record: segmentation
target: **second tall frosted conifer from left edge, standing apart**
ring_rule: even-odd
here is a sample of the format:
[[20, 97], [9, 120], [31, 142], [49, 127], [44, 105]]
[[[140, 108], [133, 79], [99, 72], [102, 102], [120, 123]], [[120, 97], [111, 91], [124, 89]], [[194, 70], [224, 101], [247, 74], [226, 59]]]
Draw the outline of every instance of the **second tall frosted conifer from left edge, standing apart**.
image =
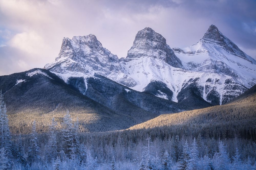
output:
[[37, 136], [38, 134], [36, 132], [36, 123], [34, 121], [32, 125], [32, 133], [31, 133], [29, 149], [28, 149], [28, 160], [30, 162], [35, 162], [36, 160], [40, 159]]

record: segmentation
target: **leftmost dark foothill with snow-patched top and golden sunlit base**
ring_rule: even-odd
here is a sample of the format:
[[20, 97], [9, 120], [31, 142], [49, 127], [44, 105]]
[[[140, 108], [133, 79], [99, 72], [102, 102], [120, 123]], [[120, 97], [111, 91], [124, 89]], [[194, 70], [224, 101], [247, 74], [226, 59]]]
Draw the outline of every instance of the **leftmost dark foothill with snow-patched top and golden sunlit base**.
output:
[[45, 132], [53, 117], [60, 127], [67, 111], [79, 120], [82, 132], [120, 130], [135, 124], [131, 116], [115, 113], [89, 99], [48, 70], [0, 76], [0, 87], [14, 134], [30, 133], [34, 120], [38, 131]]

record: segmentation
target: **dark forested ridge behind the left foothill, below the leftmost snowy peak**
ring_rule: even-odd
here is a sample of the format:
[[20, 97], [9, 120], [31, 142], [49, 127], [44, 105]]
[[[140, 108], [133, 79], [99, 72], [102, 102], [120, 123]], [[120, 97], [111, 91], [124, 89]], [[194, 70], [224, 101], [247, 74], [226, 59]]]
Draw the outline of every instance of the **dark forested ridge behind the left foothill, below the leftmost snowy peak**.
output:
[[[132, 90], [98, 74], [86, 78], [86, 82], [87, 88], [84, 91], [83, 78], [70, 78], [68, 80], [68, 84], [74, 88], [81, 89], [84, 86], [82, 93], [90, 99], [113, 109], [116, 113], [137, 116], [139, 121], [148, 120], [150, 118], [147, 117], [148, 115], [155, 117], [163, 113], [177, 113], [191, 109], [188, 106], [158, 98], [146, 92]], [[135, 112], [134, 108], [139, 110]]]

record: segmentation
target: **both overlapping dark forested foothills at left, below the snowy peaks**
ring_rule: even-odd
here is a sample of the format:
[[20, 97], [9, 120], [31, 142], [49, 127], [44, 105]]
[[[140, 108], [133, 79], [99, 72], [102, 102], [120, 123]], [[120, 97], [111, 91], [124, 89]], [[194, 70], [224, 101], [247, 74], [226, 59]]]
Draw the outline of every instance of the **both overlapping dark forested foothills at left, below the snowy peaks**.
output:
[[87, 87], [83, 77], [72, 77], [67, 84], [49, 70], [38, 68], [0, 76], [11, 132], [30, 133], [34, 120], [38, 131], [46, 132], [52, 118], [60, 128], [67, 111], [79, 121], [81, 132], [105, 132], [126, 129], [162, 113], [191, 109], [98, 74], [86, 81]]

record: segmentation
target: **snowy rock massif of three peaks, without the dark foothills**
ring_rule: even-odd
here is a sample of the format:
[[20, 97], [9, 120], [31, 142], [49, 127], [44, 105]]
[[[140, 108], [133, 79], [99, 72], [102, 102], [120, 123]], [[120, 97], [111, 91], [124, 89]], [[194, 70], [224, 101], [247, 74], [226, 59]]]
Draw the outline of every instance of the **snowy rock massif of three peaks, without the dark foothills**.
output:
[[88, 95], [87, 80], [96, 73], [193, 108], [202, 103], [204, 107], [224, 104], [256, 83], [256, 61], [214, 25], [198, 43], [173, 49], [162, 35], [147, 27], [137, 33], [127, 57], [119, 60], [94, 35], [64, 38], [56, 61], [45, 68], [66, 83], [82, 77], [84, 88], [81, 83], [76, 88], [84, 95]]

